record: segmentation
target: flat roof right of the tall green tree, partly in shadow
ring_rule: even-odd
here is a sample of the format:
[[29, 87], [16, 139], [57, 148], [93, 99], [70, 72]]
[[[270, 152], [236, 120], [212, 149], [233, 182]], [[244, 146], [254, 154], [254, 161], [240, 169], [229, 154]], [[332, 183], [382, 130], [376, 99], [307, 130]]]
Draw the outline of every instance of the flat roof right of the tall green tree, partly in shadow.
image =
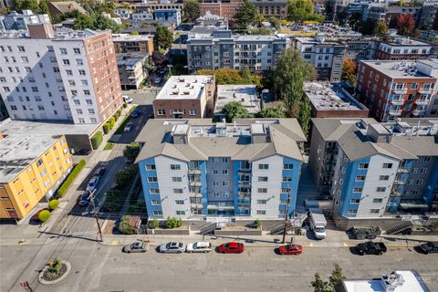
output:
[[368, 110], [347, 91], [328, 82], [304, 82], [304, 92], [317, 110]]

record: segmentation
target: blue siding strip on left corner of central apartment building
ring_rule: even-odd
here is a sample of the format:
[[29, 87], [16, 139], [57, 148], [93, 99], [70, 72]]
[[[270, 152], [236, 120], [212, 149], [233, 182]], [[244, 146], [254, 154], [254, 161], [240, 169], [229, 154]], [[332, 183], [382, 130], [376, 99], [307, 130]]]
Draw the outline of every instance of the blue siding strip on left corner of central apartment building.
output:
[[154, 215], [153, 211], [162, 211], [162, 205], [152, 205], [152, 200], [158, 200], [159, 202], [162, 201], [160, 194], [151, 194], [149, 193], [150, 188], [156, 188], [159, 189], [158, 183], [149, 183], [148, 177], [150, 176], [157, 176], [156, 171], [147, 171], [146, 165], [147, 164], [155, 164], [155, 160], [153, 158], [144, 160], [139, 162], [139, 170], [140, 170], [140, 177], [141, 177], [141, 184], [143, 186], [143, 195], [144, 195], [144, 201], [146, 203], [146, 210], [148, 210], [148, 216], [152, 219], [162, 219], [162, 215]]

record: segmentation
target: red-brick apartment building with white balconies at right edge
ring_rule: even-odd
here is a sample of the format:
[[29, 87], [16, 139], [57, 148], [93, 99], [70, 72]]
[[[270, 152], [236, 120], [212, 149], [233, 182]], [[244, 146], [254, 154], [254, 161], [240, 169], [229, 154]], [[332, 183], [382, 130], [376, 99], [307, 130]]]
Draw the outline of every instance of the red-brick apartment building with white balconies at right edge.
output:
[[437, 76], [436, 60], [361, 61], [357, 96], [379, 121], [425, 117]]

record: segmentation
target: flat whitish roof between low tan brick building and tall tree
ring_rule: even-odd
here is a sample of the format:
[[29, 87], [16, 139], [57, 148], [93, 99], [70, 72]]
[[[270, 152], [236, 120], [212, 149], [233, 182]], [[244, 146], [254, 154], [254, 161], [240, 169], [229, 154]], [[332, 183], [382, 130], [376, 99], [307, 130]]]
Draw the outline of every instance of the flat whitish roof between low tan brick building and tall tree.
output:
[[255, 85], [218, 85], [216, 95], [214, 113], [220, 113], [226, 104], [233, 101], [239, 102], [249, 113], [260, 111]]

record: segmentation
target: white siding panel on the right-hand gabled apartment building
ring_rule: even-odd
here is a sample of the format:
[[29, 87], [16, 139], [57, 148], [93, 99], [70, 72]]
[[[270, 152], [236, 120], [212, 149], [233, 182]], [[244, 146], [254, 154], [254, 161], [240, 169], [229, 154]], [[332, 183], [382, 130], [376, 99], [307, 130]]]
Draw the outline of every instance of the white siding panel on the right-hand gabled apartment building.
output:
[[[392, 168], [383, 168], [383, 163], [392, 163]], [[398, 167], [399, 161], [394, 158], [381, 154], [371, 156], [357, 217], [379, 217], [385, 212]], [[389, 175], [390, 180], [381, 181], [381, 175]], [[386, 191], [377, 192], [378, 187], [386, 187]], [[383, 200], [381, 203], [373, 203], [374, 199]], [[371, 209], [379, 209], [379, 214], [370, 214]]]

